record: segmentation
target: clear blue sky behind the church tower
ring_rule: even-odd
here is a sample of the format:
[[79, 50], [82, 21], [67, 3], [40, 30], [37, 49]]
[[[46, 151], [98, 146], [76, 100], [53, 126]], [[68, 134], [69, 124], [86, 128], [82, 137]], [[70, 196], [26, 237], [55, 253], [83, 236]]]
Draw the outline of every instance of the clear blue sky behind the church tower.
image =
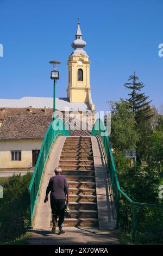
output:
[[106, 111], [106, 101], [126, 97], [123, 84], [134, 71], [146, 85], [143, 92], [159, 108], [162, 10], [162, 0], [0, 0], [0, 97], [53, 96], [52, 59], [61, 62], [57, 96], [66, 96], [66, 63], [79, 17], [96, 109]]

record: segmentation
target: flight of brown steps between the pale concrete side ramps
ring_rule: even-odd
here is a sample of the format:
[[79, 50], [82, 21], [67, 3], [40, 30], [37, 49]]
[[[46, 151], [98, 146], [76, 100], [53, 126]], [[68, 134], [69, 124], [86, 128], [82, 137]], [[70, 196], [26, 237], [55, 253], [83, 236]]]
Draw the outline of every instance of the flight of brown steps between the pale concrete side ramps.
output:
[[70, 189], [68, 227], [98, 227], [95, 167], [90, 136], [66, 137], [59, 167]]

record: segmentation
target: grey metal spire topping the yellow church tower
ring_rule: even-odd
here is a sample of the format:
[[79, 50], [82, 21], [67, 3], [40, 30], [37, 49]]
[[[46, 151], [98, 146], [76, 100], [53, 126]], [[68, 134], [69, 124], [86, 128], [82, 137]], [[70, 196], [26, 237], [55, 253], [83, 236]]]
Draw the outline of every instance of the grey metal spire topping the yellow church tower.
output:
[[78, 19], [78, 27], [76, 32], [76, 40], [72, 42], [72, 48], [74, 48], [74, 51], [71, 53], [71, 55], [78, 55], [82, 53], [83, 55], [87, 56], [87, 53], [83, 50], [83, 48], [86, 46], [86, 42], [82, 39], [82, 32], [80, 29], [80, 22]]

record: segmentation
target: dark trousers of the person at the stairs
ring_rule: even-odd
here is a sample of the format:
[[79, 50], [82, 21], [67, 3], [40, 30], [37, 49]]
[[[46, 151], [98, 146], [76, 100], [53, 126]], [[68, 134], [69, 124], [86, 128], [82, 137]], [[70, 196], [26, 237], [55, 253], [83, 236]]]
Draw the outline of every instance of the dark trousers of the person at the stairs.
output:
[[66, 199], [51, 199], [52, 222], [56, 223], [59, 217], [58, 227], [62, 227], [65, 220], [65, 202]]

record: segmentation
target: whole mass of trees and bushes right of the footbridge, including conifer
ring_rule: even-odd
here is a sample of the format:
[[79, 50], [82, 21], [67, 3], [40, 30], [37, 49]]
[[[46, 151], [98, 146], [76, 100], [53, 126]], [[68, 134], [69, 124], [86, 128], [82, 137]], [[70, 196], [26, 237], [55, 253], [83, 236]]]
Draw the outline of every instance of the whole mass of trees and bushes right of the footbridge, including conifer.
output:
[[[148, 96], [141, 92], [144, 84], [135, 75], [124, 86], [131, 90], [129, 99], [111, 102], [111, 135], [114, 160], [121, 189], [134, 202], [163, 205], [159, 186], [163, 185], [163, 118]], [[163, 111], [162, 111], [163, 113]], [[136, 148], [136, 162], [123, 156], [124, 149]], [[146, 161], [147, 167], [141, 166]], [[136, 208], [137, 243], [163, 243], [163, 210], [147, 206]], [[133, 206], [120, 197], [121, 234], [131, 235]]]

